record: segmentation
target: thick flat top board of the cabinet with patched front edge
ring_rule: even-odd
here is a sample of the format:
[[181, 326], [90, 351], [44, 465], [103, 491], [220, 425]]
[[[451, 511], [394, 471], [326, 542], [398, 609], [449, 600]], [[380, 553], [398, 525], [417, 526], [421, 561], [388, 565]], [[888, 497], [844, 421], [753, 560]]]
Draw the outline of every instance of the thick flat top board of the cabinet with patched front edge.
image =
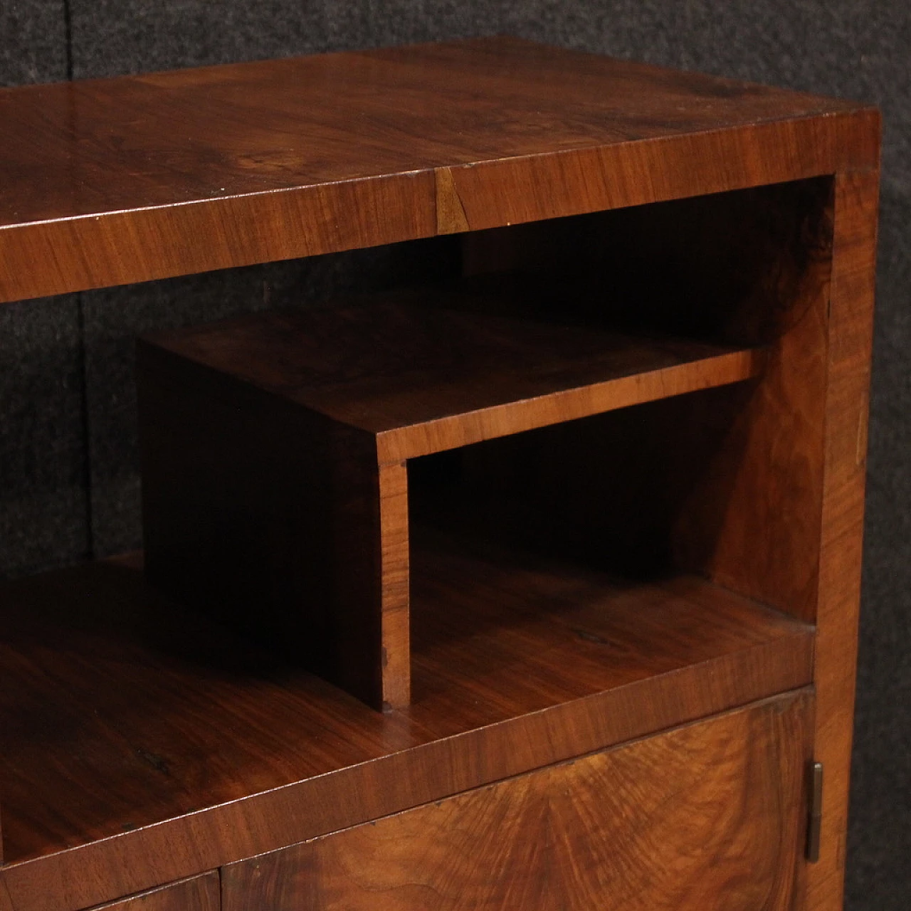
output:
[[878, 117], [507, 37], [0, 89], [0, 302], [875, 168]]

